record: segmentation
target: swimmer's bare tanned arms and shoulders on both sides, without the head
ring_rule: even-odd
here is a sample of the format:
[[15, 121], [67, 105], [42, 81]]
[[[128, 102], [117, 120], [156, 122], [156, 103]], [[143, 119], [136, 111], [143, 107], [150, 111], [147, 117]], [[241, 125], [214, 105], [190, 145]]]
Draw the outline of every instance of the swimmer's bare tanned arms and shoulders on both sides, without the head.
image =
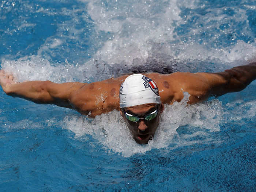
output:
[[[180, 102], [183, 92], [190, 94], [189, 104], [204, 101], [210, 96], [220, 96], [241, 91], [256, 79], [256, 62], [218, 73], [144, 74], [154, 80], [163, 104]], [[16, 83], [11, 74], [0, 70], [0, 85], [12, 97], [20, 97], [39, 104], [54, 104], [70, 108], [81, 114], [95, 117], [119, 110], [119, 89], [129, 75], [93, 83], [53, 83], [29, 81]]]

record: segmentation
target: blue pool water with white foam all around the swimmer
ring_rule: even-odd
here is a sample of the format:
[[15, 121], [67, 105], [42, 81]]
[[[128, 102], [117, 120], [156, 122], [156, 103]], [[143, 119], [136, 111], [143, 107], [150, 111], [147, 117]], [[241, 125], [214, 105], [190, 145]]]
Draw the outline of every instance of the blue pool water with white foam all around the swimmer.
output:
[[[0, 18], [1, 68], [17, 81], [218, 72], [256, 56], [251, 0], [1, 0]], [[117, 111], [92, 120], [0, 89], [0, 191], [256, 191], [255, 90], [165, 106], [140, 146]]]

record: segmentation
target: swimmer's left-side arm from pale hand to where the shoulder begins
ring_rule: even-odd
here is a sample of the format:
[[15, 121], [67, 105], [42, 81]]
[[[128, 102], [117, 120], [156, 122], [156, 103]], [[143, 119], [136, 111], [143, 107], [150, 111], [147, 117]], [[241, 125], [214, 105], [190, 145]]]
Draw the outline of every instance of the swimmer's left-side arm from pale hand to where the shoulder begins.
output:
[[71, 93], [86, 83], [53, 83], [50, 81], [29, 81], [15, 83], [13, 76], [0, 71], [0, 84], [7, 95], [20, 97], [40, 104], [54, 104], [73, 108]]

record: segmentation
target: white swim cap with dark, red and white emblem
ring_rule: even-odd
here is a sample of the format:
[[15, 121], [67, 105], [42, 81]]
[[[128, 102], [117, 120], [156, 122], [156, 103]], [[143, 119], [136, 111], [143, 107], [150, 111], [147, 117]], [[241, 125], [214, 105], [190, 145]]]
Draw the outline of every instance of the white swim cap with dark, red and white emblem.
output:
[[121, 84], [119, 96], [120, 108], [161, 103], [157, 84], [142, 74], [128, 76]]

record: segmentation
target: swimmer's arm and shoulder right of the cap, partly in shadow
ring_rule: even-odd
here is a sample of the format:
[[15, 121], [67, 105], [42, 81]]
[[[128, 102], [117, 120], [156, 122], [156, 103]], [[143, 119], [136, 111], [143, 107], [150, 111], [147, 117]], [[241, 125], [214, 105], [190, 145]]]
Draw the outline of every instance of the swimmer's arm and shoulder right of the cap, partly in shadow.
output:
[[176, 72], [164, 78], [166, 78], [165, 82], [169, 82], [170, 89], [163, 90], [171, 91], [162, 92], [163, 103], [172, 104], [173, 101], [181, 101], [185, 91], [190, 94], [188, 103], [192, 104], [204, 101], [210, 96], [218, 97], [245, 89], [256, 79], [256, 62], [218, 73]]

